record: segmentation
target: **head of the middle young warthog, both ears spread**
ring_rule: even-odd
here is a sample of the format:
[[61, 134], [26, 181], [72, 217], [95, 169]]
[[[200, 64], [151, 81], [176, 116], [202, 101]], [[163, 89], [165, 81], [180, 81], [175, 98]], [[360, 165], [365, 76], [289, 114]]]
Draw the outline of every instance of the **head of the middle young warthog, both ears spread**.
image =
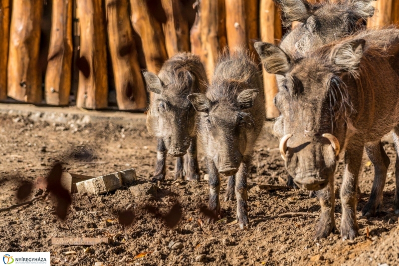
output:
[[228, 80], [212, 86], [218, 86], [220, 95], [191, 94], [189, 99], [200, 112], [198, 137], [207, 158], [213, 160], [219, 173], [231, 176], [237, 173], [247, 149], [251, 149], [247, 141], [252, 141], [248, 134], [254, 125], [245, 109], [253, 106], [259, 91], [249, 89], [246, 83]]

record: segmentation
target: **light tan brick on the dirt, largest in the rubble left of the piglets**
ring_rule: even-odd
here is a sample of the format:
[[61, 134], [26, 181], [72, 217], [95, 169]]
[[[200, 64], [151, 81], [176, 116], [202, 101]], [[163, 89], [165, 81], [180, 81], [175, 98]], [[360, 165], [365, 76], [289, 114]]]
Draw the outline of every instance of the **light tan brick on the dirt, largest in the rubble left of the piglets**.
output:
[[78, 192], [87, 192], [90, 194], [104, 194], [116, 190], [121, 186], [122, 176], [120, 172], [76, 183]]

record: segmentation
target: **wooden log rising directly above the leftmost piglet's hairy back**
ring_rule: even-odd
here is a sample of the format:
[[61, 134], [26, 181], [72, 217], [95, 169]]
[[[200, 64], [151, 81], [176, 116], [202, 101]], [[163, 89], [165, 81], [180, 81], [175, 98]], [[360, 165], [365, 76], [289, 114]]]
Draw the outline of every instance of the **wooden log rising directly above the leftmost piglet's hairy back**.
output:
[[168, 56], [190, 51], [189, 22], [183, 13], [180, 0], [162, 0], [162, 6], [167, 18], [164, 34]]

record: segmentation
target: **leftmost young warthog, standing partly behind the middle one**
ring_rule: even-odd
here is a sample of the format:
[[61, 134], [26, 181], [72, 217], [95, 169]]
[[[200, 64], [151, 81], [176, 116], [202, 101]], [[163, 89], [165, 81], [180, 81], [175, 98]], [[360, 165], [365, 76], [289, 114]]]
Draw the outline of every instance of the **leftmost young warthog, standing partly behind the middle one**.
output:
[[175, 179], [199, 180], [197, 112], [187, 96], [206, 90], [207, 79], [200, 58], [178, 53], [164, 63], [158, 76], [145, 72], [144, 77], [148, 90], [154, 93], [147, 113], [147, 129], [158, 139], [157, 164], [152, 181], [165, 179], [167, 152], [178, 157]]

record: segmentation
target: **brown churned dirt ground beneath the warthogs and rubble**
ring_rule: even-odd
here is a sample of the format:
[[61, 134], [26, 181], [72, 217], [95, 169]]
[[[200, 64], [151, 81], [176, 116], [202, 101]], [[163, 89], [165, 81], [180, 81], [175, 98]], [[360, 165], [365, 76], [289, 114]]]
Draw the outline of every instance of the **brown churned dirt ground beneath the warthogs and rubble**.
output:
[[[144, 115], [143, 115], [144, 116]], [[271, 134], [271, 123], [256, 145], [249, 183], [249, 218], [251, 227], [240, 230], [231, 225], [235, 202], [221, 202], [224, 219], [206, 223], [200, 213], [208, 200], [207, 182], [173, 182], [174, 159], [168, 157], [167, 180], [150, 185], [156, 160], [156, 141], [146, 130], [145, 120], [137, 124], [112, 122], [95, 124], [52, 124], [32, 122], [21, 115], [0, 115], [0, 208], [18, 203], [16, 191], [22, 180], [34, 181], [47, 175], [55, 161], [63, 162], [64, 171], [100, 176], [135, 168], [138, 181], [132, 189], [125, 186], [106, 195], [72, 194], [72, 205], [65, 221], [54, 214], [51, 195], [33, 204], [0, 213], [0, 251], [50, 252], [52, 265], [398, 265], [398, 217], [393, 213], [395, 192], [395, 151], [391, 141], [385, 149], [391, 158], [384, 206], [377, 218], [360, 217], [374, 177], [374, 169], [364, 158], [360, 178], [362, 194], [358, 213], [361, 236], [343, 242], [339, 234], [313, 241], [317, 216], [265, 218], [288, 212], [317, 214], [320, 206], [306, 191], [257, 190], [256, 185], [285, 185], [287, 173]], [[73, 123], [73, 122], [71, 122]], [[92, 156], [70, 157], [71, 151], [88, 150]], [[199, 156], [201, 178], [206, 169]], [[341, 160], [336, 174], [336, 223], [340, 228], [339, 187], [343, 170]], [[226, 180], [222, 180], [221, 195]], [[146, 193], [147, 192], [147, 195]], [[29, 198], [35, 196], [33, 191]], [[167, 214], [173, 204], [182, 205], [182, 219], [169, 229], [158, 218], [143, 210], [151, 204]], [[124, 227], [117, 212], [129, 208], [133, 223]], [[262, 220], [263, 219], [263, 220]], [[370, 237], [367, 238], [367, 231]], [[113, 243], [83, 246], [54, 246], [53, 237], [110, 237]], [[76, 254], [65, 255], [75, 251]], [[135, 256], [150, 252], [148, 255]]]

